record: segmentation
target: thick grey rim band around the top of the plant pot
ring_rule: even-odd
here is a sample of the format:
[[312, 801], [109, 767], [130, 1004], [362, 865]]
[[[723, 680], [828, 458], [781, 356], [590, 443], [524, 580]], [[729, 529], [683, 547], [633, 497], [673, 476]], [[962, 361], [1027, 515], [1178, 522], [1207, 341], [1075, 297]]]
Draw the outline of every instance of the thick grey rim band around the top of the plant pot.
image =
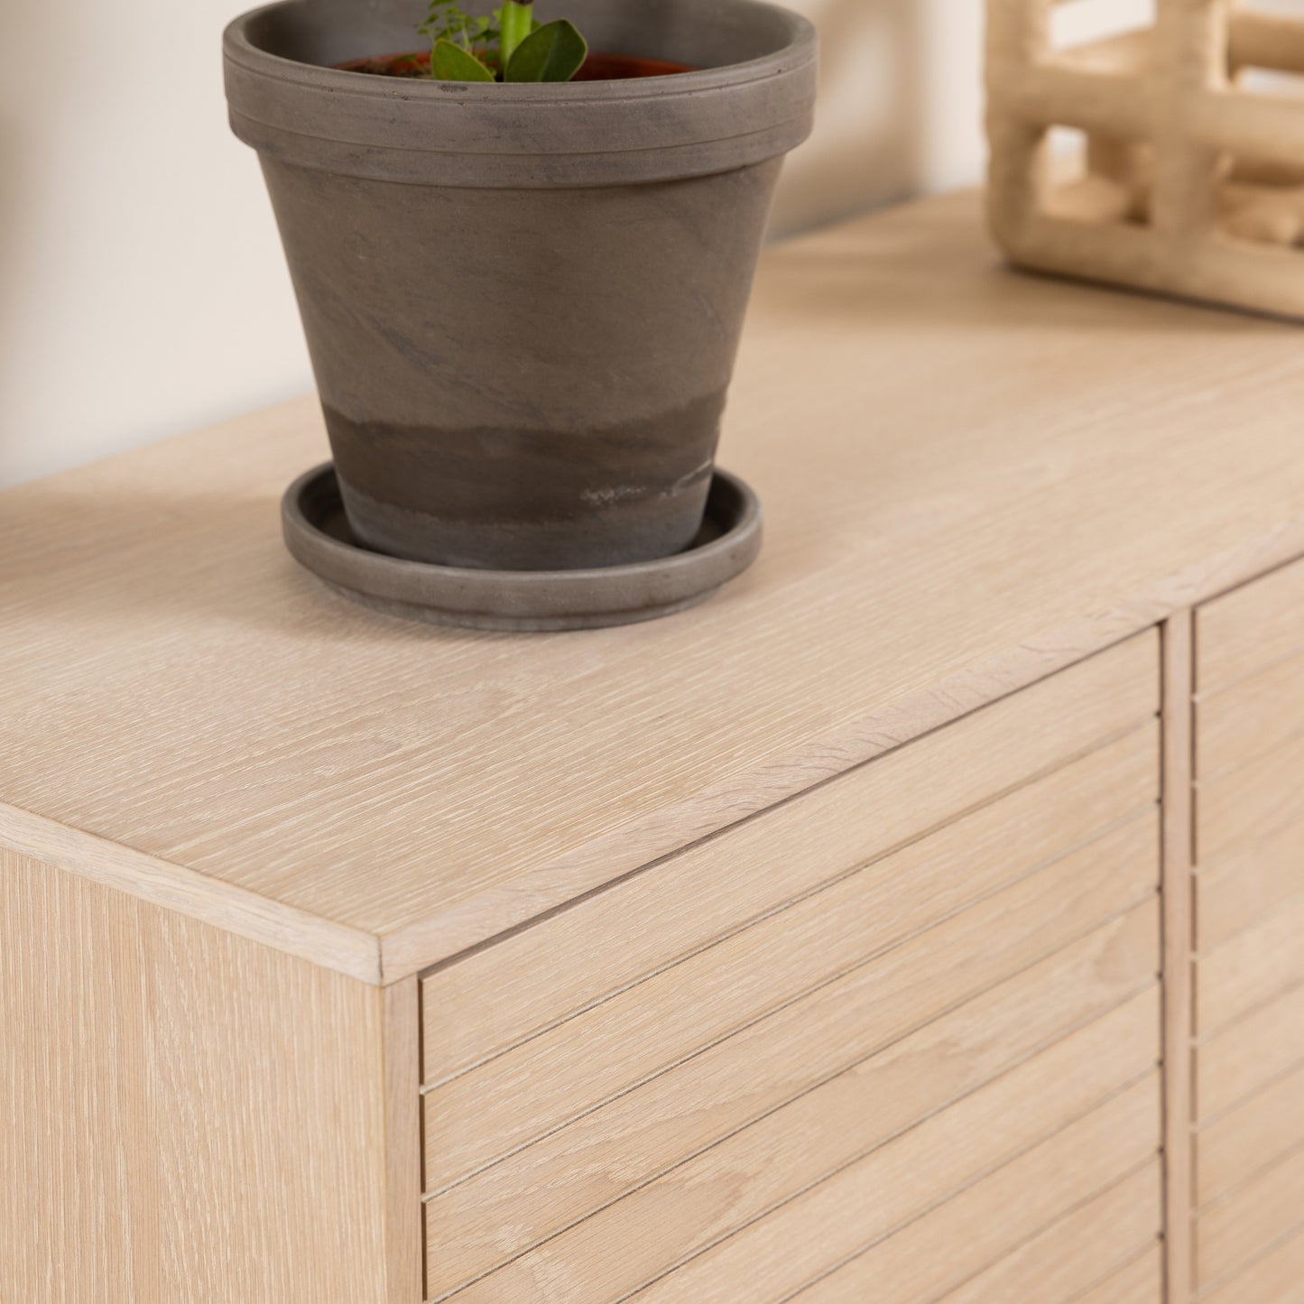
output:
[[[585, 0], [589, 7], [614, 0]], [[666, 4], [678, 0], [665, 0]], [[764, 0], [711, 0], [703, 38], [728, 51], [764, 16], [754, 59], [673, 77], [503, 85], [396, 80], [304, 63], [256, 43], [323, 56], [366, 14], [275, 0], [226, 30], [231, 126], [267, 160], [400, 185], [553, 189], [682, 180], [778, 158], [810, 136], [819, 38]], [[278, 30], [284, 16], [288, 23]], [[271, 16], [271, 17], [270, 17]], [[306, 22], [296, 34], [295, 22]], [[269, 25], [259, 34], [258, 25]], [[312, 23], [318, 26], [314, 29]], [[295, 46], [297, 39], [306, 47]], [[738, 39], [746, 39], [738, 37]], [[364, 40], [360, 43], [365, 43]], [[685, 61], [691, 61], [690, 56]]]

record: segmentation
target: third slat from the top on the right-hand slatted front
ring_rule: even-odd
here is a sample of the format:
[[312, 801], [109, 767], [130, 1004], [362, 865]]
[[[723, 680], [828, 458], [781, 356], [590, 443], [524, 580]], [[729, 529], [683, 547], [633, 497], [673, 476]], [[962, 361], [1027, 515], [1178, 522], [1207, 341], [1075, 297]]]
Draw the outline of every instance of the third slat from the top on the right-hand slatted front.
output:
[[[1197, 743], [1198, 746], [1198, 743]], [[1196, 789], [1196, 857], [1201, 867], [1247, 850], [1304, 816], [1304, 734]]]

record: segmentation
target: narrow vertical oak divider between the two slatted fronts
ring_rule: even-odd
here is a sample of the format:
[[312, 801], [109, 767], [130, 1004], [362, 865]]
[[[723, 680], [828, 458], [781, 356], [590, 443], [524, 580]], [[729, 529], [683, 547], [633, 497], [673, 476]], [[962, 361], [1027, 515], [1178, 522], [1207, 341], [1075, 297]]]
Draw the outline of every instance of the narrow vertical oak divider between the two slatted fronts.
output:
[[1194, 1029], [1192, 867], [1194, 862], [1196, 738], [1194, 617], [1181, 613], [1162, 630], [1163, 649], [1163, 1251], [1166, 1304], [1192, 1295], [1191, 1211], [1192, 1047]]

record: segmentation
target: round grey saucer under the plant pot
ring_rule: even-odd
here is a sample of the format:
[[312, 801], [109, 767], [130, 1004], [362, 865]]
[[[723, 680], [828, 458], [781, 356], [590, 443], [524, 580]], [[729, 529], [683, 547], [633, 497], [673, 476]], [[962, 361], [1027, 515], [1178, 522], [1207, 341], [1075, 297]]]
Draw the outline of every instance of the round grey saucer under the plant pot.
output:
[[336, 592], [393, 615], [479, 630], [592, 630], [670, 615], [741, 575], [762, 541], [760, 499], [724, 471], [691, 548], [600, 570], [468, 570], [370, 552], [349, 532], [329, 462], [286, 490], [280, 516], [291, 554]]

